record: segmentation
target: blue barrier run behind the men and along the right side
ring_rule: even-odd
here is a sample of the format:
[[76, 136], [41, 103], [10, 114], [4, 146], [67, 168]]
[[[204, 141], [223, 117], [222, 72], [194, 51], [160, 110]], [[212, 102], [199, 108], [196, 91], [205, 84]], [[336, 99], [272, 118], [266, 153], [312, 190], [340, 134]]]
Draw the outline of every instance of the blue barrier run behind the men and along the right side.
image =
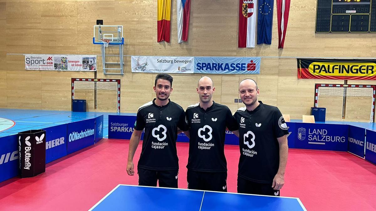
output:
[[[136, 116], [108, 115], [108, 138], [129, 140], [135, 121]], [[340, 124], [287, 122], [287, 126], [289, 148], [347, 151], [376, 164], [375, 131]], [[180, 133], [177, 142], [189, 142], [189, 139]], [[224, 143], [239, 145], [239, 139], [231, 131], [226, 131]]]

